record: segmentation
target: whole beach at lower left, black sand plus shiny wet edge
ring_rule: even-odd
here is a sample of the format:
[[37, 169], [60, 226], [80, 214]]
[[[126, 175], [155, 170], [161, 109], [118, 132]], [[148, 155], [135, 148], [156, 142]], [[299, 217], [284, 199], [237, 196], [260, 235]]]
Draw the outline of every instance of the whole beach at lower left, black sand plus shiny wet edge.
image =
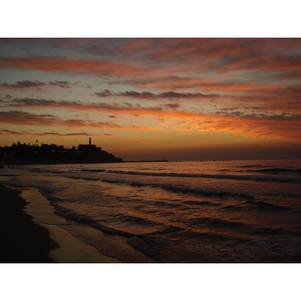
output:
[[0, 182], [0, 195], [1, 263], [122, 263], [53, 223], [65, 220], [38, 190]]

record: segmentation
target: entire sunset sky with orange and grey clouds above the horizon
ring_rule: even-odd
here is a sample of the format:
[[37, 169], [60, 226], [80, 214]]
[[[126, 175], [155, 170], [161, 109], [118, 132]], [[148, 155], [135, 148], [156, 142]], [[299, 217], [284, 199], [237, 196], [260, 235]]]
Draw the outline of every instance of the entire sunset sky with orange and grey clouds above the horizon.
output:
[[0, 146], [301, 158], [300, 38], [1, 38]]

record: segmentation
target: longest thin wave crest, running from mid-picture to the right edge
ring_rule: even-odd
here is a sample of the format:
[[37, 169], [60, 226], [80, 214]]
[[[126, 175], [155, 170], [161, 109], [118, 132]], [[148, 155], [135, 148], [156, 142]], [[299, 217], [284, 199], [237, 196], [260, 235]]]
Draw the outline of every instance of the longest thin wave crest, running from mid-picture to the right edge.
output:
[[284, 183], [301, 183], [300, 177], [275, 177], [275, 176], [253, 176], [253, 175], [206, 175], [206, 174], [178, 174], [178, 173], [143, 173], [132, 171], [116, 171], [108, 170], [107, 173], [121, 175], [137, 175], [152, 177], [182, 177], [182, 178], [214, 178], [214, 179], [232, 179], [246, 181], [262, 181], [262, 182], [284, 182]]

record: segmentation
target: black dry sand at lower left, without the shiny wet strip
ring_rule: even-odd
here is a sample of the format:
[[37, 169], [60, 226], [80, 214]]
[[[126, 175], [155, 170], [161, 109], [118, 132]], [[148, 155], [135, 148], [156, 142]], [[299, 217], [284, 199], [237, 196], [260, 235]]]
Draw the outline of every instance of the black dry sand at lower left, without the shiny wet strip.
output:
[[17, 190], [0, 185], [2, 263], [55, 263], [48, 256], [59, 244], [50, 238], [50, 232], [32, 221], [22, 211], [26, 202]]

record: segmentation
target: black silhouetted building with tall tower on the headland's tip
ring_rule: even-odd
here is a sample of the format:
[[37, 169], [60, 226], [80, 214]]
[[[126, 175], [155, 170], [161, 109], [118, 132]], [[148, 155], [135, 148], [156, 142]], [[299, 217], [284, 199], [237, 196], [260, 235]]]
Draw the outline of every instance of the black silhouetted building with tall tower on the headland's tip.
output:
[[77, 147], [79, 152], [82, 152], [86, 159], [90, 162], [97, 163], [112, 163], [112, 162], [122, 162], [121, 158], [115, 158], [112, 154], [101, 150], [101, 147], [96, 147], [95, 144], [91, 143], [91, 138], [89, 138], [89, 144], [79, 144]]

